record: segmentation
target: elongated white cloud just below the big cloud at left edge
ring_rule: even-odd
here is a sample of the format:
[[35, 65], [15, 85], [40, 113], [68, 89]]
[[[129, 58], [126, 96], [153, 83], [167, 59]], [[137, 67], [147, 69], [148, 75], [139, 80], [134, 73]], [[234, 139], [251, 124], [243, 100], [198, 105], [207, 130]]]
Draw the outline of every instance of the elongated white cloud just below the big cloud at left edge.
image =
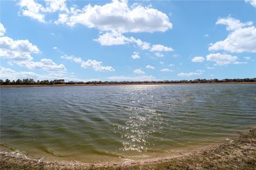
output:
[[27, 67], [28, 69], [43, 69], [48, 72], [62, 74], [66, 72], [65, 65], [56, 64], [51, 59], [43, 58], [40, 62], [33, 61], [17, 61], [19, 66]]

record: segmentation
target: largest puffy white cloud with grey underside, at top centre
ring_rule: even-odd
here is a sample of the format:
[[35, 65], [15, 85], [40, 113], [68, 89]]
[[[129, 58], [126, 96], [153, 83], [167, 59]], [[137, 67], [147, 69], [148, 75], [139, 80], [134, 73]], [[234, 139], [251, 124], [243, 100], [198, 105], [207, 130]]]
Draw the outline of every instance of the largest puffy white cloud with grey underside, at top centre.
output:
[[83, 24], [101, 31], [155, 32], [172, 28], [166, 14], [141, 5], [129, 7], [127, 1], [112, 1], [105, 5], [86, 5], [82, 10], [70, 10], [61, 15], [57, 23], [73, 27]]

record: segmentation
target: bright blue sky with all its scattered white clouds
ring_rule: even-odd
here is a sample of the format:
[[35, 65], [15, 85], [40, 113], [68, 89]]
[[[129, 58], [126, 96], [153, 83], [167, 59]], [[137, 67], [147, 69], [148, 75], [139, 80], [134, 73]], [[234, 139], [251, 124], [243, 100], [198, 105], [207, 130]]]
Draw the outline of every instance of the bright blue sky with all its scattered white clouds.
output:
[[256, 77], [256, 1], [1, 1], [1, 79]]

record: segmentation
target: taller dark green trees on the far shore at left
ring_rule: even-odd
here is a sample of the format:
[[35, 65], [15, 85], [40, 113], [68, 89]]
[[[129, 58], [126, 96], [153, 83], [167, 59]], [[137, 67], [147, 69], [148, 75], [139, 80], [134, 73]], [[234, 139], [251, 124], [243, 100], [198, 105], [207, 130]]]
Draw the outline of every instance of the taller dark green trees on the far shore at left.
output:
[[42, 80], [42, 81], [35, 81], [34, 79], [17, 79], [16, 81], [13, 80], [9, 80], [9, 79], [6, 79], [5, 81], [3, 81], [2, 79], [0, 79], [0, 84], [1, 85], [28, 85], [28, 84], [64, 84], [65, 83], [65, 80], [64, 79], [56, 79], [56, 80]]

